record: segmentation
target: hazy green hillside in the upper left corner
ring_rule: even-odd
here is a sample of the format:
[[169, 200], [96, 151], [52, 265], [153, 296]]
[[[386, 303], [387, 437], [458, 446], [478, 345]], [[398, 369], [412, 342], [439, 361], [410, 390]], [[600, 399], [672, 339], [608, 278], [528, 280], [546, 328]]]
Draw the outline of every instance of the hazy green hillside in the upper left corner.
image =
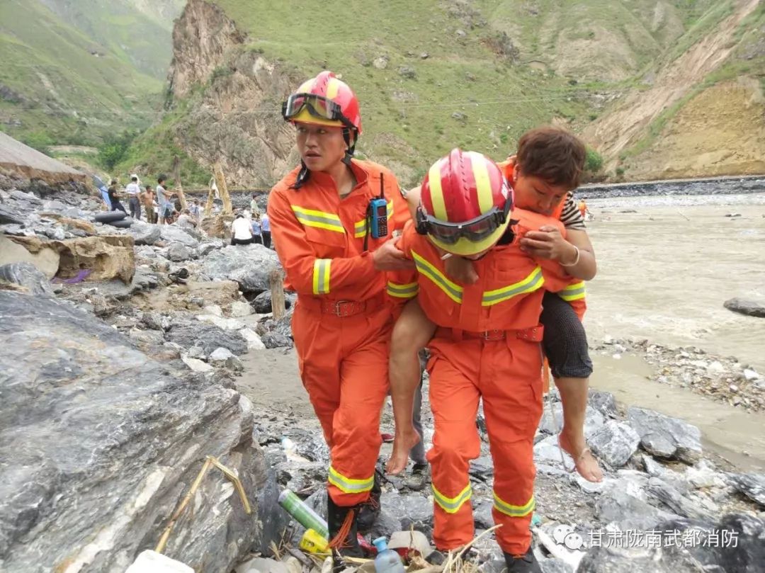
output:
[[97, 142], [151, 124], [161, 90], [37, 0], [0, 2], [0, 127], [10, 135]]

